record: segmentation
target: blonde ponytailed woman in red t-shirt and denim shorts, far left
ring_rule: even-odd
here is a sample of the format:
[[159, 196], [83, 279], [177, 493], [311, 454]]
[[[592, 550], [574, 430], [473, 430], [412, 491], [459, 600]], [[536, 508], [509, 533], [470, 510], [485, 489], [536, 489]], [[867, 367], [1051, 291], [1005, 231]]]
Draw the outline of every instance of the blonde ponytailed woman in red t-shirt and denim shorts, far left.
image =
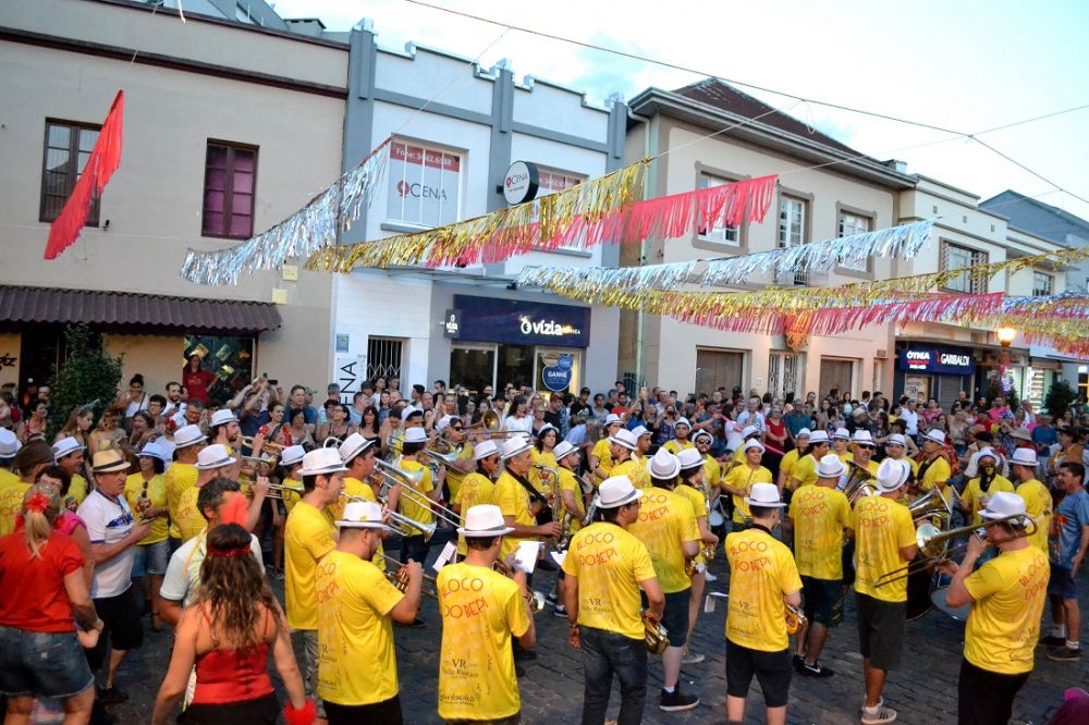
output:
[[0, 537], [0, 695], [9, 723], [27, 722], [35, 698], [59, 699], [64, 722], [86, 723], [95, 701], [83, 647], [97, 643], [102, 620], [78, 548], [53, 530], [60, 507], [53, 487], [32, 486], [23, 529]]

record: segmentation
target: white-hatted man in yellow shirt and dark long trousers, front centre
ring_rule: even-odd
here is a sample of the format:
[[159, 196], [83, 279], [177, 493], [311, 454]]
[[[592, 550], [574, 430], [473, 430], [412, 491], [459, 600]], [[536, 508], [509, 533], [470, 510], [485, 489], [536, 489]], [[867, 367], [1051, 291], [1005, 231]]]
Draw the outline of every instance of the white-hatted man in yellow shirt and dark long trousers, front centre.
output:
[[[563, 560], [568, 641], [583, 651], [584, 723], [604, 722], [614, 673], [621, 691], [617, 722], [643, 720], [647, 697], [643, 620], [661, 620], [665, 607], [650, 552], [626, 530], [639, 518], [643, 496], [623, 476], [602, 481], [598, 487], [602, 520], [582, 529]], [[645, 613], [640, 589], [649, 602]]]

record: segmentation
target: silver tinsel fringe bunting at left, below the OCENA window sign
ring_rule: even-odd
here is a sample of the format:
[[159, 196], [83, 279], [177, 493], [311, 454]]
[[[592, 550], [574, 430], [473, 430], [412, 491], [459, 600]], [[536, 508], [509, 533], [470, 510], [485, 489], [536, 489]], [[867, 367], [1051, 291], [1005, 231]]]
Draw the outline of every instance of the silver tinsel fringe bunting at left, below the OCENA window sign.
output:
[[337, 242], [370, 205], [389, 162], [390, 140], [327, 187], [301, 210], [267, 232], [218, 251], [191, 248], [182, 277], [196, 284], [237, 284], [245, 272], [277, 269], [289, 257], [309, 256]]

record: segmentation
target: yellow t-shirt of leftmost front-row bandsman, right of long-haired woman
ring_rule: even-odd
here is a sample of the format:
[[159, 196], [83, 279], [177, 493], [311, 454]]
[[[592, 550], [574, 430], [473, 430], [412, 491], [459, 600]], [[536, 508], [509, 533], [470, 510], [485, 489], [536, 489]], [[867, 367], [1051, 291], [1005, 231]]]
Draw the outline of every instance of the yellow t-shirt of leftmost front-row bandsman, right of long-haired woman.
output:
[[317, 592], [318, 697], [364, 705], [396, 696], [397, 661], [389, 614], [404, 594], [374, 564], [335, 549], [317, 565], [311, 587]]

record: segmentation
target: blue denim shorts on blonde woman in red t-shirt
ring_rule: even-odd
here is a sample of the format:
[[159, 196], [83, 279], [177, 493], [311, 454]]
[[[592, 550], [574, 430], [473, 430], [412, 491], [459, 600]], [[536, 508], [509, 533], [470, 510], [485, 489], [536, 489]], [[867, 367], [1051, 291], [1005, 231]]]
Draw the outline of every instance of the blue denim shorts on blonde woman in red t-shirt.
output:
[[74, 631], [0, 627], [0, 695], [69, 698], [94, 681]]

